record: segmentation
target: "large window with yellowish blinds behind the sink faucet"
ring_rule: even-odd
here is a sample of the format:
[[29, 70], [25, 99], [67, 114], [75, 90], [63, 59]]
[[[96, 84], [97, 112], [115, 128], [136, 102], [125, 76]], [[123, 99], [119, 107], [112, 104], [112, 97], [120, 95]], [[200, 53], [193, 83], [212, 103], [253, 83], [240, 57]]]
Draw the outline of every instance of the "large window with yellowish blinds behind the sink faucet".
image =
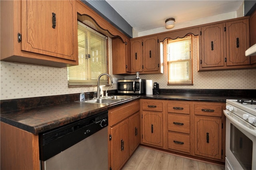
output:
[[[78, 66], [68, 67], [68, 86], [94, 86], [108, 73], [108, 37], [78, 21]], [[102, 76], [101, 84], [108, 84]]]

